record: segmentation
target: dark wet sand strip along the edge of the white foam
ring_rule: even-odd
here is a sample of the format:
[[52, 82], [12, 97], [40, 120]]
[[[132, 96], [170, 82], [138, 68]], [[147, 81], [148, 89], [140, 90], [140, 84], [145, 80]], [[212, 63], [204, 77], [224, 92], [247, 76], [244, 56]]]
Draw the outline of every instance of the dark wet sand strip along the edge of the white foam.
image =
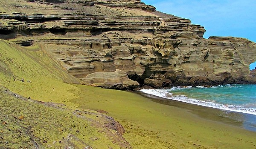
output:
[[[242, 129], [246, 129], [252, 132], [256, 132], [256, 115], [230, 111], [225, 109], [218, 109], [209, 106], [202, 106], [192, 103], [186, 103], [178, 100], [159, 97], [156, 95], [147, 94], [144, 92], [134, 92], [150, 100], [168, 106], [175, 106], [177, 108], [188, 110], [193, 115], [204, 118], [206, 120], [212, 120], [218, 123], [225, 123], [230, 126], [237, 126]], [[244, 119], [247, 118], [247, 120]], [[254, 121], [252, 121], [252, 120]], [[247, 123], [244, 126], [244, 123]]]

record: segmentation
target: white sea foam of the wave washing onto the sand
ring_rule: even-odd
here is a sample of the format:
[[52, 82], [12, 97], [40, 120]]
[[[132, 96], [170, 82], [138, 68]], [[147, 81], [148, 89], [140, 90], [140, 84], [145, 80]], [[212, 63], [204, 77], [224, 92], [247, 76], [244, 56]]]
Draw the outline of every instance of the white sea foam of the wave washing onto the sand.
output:
[[[200, 87], [202, 87], [202, 86], [200, 86]], [[189, 88], [192, 88], [192, 86], [189, 86]], [[176, 90], [176, 89], [184, 89], [184, 88], [173, 87], [172, 89], [142, 89], [140, 91], [144, 92], [146, 94], [157, 96], [157, 97], [163, 97], [166, 99], [177, 100], [177, 101], [181, 101], [181, 102], [185, 102], [185, 103], [191, 103], [191, 104], [196, 104], [196, 105], [200, 105], [200, 106], [212, 107], [212, 108], [216, 108], [216, 109], [223, 109], [223, 110], [228, 110], [228, 111], [256, 115], [256, 108], [235, 106], [235, 105], [230, 105], [230, 104], [214, 103], [214, 101], [210, 101], [210, 100], [192, 99], [192, 98], [188, 98], [188, 97], [182, 96], [182, 95], [180, 95], [180, 96], [172, 95], [172, 93], [169, 92], [170, 90]]]

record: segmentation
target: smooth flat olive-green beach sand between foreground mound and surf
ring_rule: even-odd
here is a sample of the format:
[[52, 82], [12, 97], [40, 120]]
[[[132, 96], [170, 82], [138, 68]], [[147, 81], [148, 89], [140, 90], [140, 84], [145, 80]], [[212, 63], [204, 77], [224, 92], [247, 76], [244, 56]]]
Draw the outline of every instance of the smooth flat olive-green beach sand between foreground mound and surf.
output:
[[181, 144], [183, 148], [202, 149], [256, 146], [256, 132], [244, 129], [241, 121], [220, 116], [223, 111], [159, 100], [138, 92], [77, 86], [81, 97], [72, 102], [80, 105], [79, 109], [108, 112], [106, 115], [124, 127], [123, 136], [135, 149], [176, 149]]

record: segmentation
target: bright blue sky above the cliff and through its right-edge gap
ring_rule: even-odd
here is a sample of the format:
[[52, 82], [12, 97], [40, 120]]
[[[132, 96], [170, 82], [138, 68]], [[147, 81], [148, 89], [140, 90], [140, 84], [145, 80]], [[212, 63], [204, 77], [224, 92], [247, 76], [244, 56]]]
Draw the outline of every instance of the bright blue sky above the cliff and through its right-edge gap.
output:
[[[209, 36], [233, 36], [256, 42], [256, 0], [141, 0], [158, 11], [204, 26]], [[256, 63], [250, 66], [254, 69]]]

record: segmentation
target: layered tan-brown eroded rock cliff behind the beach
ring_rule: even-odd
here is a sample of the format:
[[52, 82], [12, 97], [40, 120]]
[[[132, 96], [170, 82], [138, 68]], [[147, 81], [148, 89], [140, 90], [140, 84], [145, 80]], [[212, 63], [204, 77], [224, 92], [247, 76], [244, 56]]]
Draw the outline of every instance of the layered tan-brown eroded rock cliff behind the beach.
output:
[[256, 83], [256, 43], [209, 37], [140, 0], [1, 0], [0, 39], [40, 43], [83, 84], [114, 89]]

